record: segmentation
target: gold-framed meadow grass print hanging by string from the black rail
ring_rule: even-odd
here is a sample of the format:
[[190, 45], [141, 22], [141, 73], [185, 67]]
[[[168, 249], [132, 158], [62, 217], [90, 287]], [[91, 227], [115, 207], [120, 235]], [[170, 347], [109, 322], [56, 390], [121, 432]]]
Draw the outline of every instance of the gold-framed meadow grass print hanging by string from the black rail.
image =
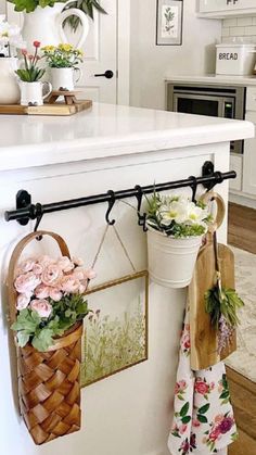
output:
[[86, 295], [93, 312], [84, 323], [81, 387], [148, 359], [149, 273], [108, 281]]

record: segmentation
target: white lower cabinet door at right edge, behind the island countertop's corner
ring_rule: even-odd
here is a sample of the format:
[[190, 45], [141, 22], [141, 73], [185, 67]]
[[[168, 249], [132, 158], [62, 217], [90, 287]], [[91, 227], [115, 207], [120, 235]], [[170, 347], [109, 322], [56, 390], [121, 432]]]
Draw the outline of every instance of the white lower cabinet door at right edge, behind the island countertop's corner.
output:
[[[246, 121], [256, 125], [256, 112], [248, 112]], [[244, 141], [243, 192], [256, 195], [256, 138]]]

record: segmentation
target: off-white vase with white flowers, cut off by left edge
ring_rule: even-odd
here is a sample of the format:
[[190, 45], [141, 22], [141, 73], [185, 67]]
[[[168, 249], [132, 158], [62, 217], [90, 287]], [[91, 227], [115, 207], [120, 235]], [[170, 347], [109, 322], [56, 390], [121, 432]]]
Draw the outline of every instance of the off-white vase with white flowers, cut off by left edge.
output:
[[16, 104], [20, 101], [20, 89], [15, 69], [17, 59], [15, 46], [20, 42], [20, 28], [0, 15], [0, 104]]

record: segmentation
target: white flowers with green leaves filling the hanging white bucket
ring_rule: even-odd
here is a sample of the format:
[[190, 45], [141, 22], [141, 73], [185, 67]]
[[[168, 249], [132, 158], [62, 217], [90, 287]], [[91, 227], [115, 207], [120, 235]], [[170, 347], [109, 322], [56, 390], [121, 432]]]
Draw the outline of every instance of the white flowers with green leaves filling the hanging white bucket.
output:
[[203, 202], [192, 202], [185, 195], [161, 195], [154, 192], [148, 203], [146, 225], [166, 236], [202, 236], [206, 233], [212, 219]]

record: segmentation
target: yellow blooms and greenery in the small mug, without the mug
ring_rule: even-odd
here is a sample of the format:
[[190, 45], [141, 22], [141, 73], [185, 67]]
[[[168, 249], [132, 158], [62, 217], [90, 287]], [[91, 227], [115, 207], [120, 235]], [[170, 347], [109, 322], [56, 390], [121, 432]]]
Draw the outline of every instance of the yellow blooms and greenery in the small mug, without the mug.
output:
[[69, 43], [44, 46], [41, 51], [52, 68], [74, 68], [82, 62], [82, 51]]

